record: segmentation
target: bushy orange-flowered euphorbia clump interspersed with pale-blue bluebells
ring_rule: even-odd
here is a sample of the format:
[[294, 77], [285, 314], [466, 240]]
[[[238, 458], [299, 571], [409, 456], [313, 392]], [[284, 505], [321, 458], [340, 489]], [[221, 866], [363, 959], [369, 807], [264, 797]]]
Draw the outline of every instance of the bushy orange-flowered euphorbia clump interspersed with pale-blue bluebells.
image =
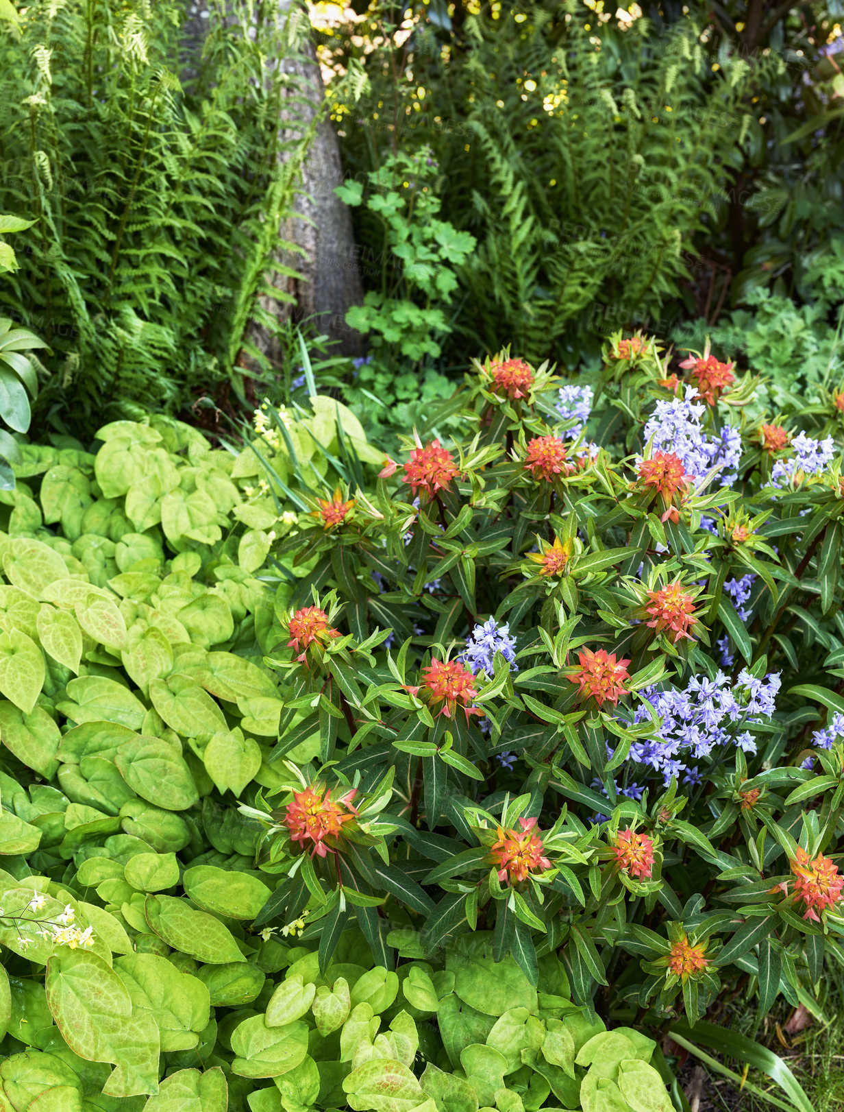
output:
[[670, 374], [642, 335], [590, 386], [502, 353], [432, 417], [465, 438], [409, 437], [300, 516], [260, 922], [307, 909], [328, 957], [354, 915], [384, 965], [396, 924], [425, 955], [491, 931], [653, 1019], [724, 981], [760, 1017], [811, 992], [842, 955], [816, 727], [844, 711], [844, 494], [832, 437], [745, 417], [756, 385], [709, 346]]

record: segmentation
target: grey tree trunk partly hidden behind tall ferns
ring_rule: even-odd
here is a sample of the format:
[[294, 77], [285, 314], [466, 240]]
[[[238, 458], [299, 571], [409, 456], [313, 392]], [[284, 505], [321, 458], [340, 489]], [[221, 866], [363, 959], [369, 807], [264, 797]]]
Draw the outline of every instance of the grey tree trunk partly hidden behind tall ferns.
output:
[[[289, 4], [282, 0], [280, 10], [284, 13]], [[204, 38], [212, 19], [207, 0], [188, 4], [183, 29], [184, 61], [182, 72], [193, 76], [193, 60], [202, 52]], [[325, 96], [322, 75], [316, 61], [313, 42], [307, 44], [307, 58], [282, 59], [285, 72], [301, 79], [300, 96], [309, 105], [297, 105], [297, 115], [307, 127], [319, 112]], [[279, 120], [280, 130], [290, 136], [290, 121]], [[295, 278], [271, 278], [271, 284], [282, 285], [295, 298], [294, 302], [261, 298], [263, 309], [280, 321], [292, 318], [305, 320], [315, 318], [314, 326], [336, 344], [335, 354], [359, 355], [362, 337], [356, 329], [345, 324], [345, 314], [353, 305], [363, 301], [360, 267], [358, 265], [352, 219], [348, 207], [334, 195], [334, 188], [342, 185], [343, 169], [340, 161], [340, 146], [331, 121], [323, 115], [316, 127], [316, 135], [302, 166], [300, 192], [297, 197], [295, 217], [287, 220], [279, 229], [280, 240], [297, 244], [304, 254], [284, 251], [281, 247], [277, 260], [298, 270]], [[275, 364], [281, 361], [281, 353], [272, 331], [255, 322], [250, 326], [249, 339]]]

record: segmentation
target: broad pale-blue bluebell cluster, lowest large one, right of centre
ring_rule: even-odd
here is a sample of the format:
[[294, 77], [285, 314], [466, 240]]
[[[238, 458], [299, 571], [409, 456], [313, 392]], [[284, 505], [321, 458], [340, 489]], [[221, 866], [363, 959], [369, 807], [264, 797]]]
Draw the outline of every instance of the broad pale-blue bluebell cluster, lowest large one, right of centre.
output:
[[751, 732], [737, 733], [736, 727], [770, 718], [778, 691], [778, 672], [757, 679], [746, 668], [738, 673], [735, 684], [719, 672], [714, 679], [692, 676], [682, 692], [649, 687], [642, 693], [645, 702], [636, 708], [633, 721], [646, 722], [653, 708], [662, 724], [654, 738], [633, 743], [630, 759], [661, 772], [666, 785], [683, 772], [683, 782], [695, 784], [701, 774], [689, 765], [689, 758], [699, 761], [730, 743], [744, 753], [756, 752]]

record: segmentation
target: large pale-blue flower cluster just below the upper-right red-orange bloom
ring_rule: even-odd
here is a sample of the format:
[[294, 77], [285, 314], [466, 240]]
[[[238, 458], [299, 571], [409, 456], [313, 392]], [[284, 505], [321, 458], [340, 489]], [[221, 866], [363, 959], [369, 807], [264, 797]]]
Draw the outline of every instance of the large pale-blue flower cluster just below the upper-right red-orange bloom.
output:
[[701, 425], [706, 406], [695, 401], [695, 397], [697, 390], [686, 387], [684, 397], [657, 401], [645, 425], [645, 443], [653, 437], [653, 451], [673, 453], [682, 460], [686, 474], [696, 479], [719, 467], [721, 486], [730, 486], [742, 456], [741, 433], [732, 425], [724, 425], [720, 433], [707, 437]]

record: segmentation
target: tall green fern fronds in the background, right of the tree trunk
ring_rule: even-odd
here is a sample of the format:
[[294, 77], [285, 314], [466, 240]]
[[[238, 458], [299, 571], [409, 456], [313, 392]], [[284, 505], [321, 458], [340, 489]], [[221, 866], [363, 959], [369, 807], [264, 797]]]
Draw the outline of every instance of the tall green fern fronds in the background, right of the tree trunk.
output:
[[[512, 342], [571, 363], [597, 354], [607, 309], [619, 322], [677, 311], [689, 252], [721, 227], [758, 128], [743, 98], [774, 60], [713, 64], [694, 16], [657, 27], [575, 4], [439, 11], [400, 28], [373, 4], [370, 41], [355, 22], [324, 50], [370, 80], [354, 103], [335, 95], [350, 188], [391, 143], [405, 159], [430, 148], [442, 218], [478, 241], [449, 361]], [[380, 229], [360, 219], [358, 236], [380, 255]]]

